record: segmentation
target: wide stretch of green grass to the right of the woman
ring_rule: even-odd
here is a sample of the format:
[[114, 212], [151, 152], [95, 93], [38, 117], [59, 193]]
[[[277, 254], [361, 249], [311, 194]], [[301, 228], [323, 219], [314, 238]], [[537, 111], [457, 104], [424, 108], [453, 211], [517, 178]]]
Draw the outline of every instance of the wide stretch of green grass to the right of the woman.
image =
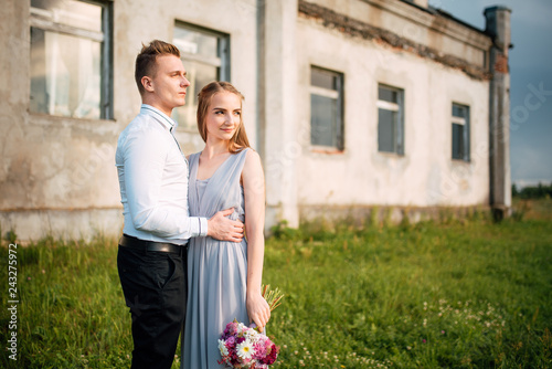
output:
[[274, 241], [282, 367], [552, 367], [551, 224], [433, 223]]

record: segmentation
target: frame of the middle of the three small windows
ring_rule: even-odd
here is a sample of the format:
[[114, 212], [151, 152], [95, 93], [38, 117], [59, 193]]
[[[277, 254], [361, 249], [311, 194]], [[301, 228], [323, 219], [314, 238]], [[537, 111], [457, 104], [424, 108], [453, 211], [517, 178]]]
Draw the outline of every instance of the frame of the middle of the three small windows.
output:
[[[397, 102], [388, 102], [384, 99], [380, 98], [380, 88], [384, 88], [388, 91], [392, 91], [396, 93], [397, 96]], [[399, 156], [404, 156], [405, 154], [405, 129], [404, 129], [404, 120], [405, 120], [405, 113], [404, 113], [404, 97], [405, 93], [403, 88], [391, 86], [384, 83], [378, 83], [378, 101], [375, 103], [375, 106], [378, 108], [378, 135], [376, 135], [376, 146], [378, 146], [378, 152], [382, 154], [394, 154]], [[384, 150], [380, 147], [380, 109], [384, 109], [388, 112], [395, 112], [397, 113], [397, 119], [393, 124], [396, 126], [394, 127], [394, 137], [393, 137], [393, 150]]]

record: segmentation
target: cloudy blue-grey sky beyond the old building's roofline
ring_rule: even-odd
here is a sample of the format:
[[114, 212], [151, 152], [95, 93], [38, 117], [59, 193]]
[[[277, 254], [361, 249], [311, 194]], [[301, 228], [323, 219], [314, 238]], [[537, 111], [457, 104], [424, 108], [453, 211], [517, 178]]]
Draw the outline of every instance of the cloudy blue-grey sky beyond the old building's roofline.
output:
[[552, 1], [429, 0], [429, 6], [478, 29], [485, 8], [511, 13], [510, 162], [519, 187], [552, 182]]

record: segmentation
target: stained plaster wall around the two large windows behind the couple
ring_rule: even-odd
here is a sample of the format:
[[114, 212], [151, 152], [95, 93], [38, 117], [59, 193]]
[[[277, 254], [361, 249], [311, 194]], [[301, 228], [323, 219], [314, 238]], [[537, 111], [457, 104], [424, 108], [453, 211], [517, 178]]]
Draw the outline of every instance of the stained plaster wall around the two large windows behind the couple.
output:
[[[117, 236], [123, 225], [115, 150], [119, 133], [136, 116], [134, 80], [141, 43], [171, 41], [174, 21], [225, 32], [231, 38], [231, 80], [245, 95], [244, 117], [256, 145], [256, 0], [114, 0], [114, 119], [86, 120], [29, 114], [29, 1], [2, 4], [0, 77], [0, 226], [21, 240]], [[201, 150], [198, 134], [179, 131], [187, 154]]]

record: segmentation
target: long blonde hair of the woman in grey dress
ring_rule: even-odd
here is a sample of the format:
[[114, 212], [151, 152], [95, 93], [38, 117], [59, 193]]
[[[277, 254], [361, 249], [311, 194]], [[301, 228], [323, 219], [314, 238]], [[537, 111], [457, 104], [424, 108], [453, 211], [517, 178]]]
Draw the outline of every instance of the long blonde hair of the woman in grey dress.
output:
[[[208, 130], [205, 124], [205, 117], [208, 115], [209, 105], [213, 96], [221, 92], [229, 92], [235, 94], [240, 97], [240, 104], [244, 101], [242, 93], [240, 93], [236, 87], [234, 87], [230, 82], [211, 82], [203, 88], [201, 88], [198, 94], [198, 130], [200, 131], [203, 141], [206, 141]], [[237, 126], [234, 136], [230, 139], [229, 151], [232, 154], [238, 152], [250, 146], [250, 140], [247, 139], [247, 134], [245, 133], [245, 127], [243, 125], [243, 116], [240, 115], [240, 125]]]

